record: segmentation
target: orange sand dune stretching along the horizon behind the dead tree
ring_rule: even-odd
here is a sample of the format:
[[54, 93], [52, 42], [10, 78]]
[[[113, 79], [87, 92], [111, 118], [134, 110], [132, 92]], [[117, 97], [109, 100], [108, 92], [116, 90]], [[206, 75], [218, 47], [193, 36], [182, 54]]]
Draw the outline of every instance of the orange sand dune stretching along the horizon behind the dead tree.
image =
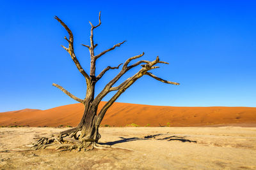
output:
[[[103, 104], [100, 103], [99, 108]], [[49, 110], [21, 110], [0, 113], [0, 125], [75, 127], [83, 115], [82, 104], [69, 104]], [[102, 125], [125, 126], [208, 126], [250, 125], [256, 127], [256, 108], [248, 107], [173, 107], [114, 103]]]

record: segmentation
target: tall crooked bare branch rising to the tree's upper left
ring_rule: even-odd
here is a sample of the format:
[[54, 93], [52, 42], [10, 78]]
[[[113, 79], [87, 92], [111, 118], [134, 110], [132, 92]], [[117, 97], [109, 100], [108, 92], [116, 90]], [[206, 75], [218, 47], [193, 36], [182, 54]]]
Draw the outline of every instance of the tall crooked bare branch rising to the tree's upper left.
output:
[[66, 48], [65, 46], [62, 46], [65, 50], [67, 50], [67, 52], [70, 54], [72, 60], [74, 61], [74, 63], [76, 64], [77, 69], [80, 71], [81, 74], [83, 74], [84, 78], [86, 79], [86, 83], [89, 83], [89, 76], [88, 74], [84, 71], [83, 67], [81, 66], [81, 64], [79, 63], [79, 61], [76, 58], [76, 55], [74, 53], [74, 46], [73, 46], [73, 34], [72, 31], [68, 28], [68, 26], [62, 22], [62, 20], [60, 18], [58, 18], [57, 16], [54, 17], [56, 20], [58, 20], [58, 22], [60, 22], [61, 25], [63, 25], [63, 27], [67, 30], [69, 38], [67, 39], [65, 36], [65, 39], [68, 41], [68, 48]]

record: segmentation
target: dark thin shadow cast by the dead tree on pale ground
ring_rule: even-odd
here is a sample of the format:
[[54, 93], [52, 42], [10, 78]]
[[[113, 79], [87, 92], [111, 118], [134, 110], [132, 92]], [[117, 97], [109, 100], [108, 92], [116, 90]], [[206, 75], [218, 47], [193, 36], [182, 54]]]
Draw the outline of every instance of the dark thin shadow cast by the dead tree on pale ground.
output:
[[159, 136], [166, 135], [166, 134], [154, 134], [154, 135], [148, 135], [144, 136], [144, 138], [121, 138], [120, 140], [117, 141], [111, 141], [111, 142], [106, 142], [106, 143], [99, 143], [100, 145], [115, 145], [117, 143], [125, 143], [129, 141], [145, 141], [145, 140], [150, 140], [150, 139], [155, 139], [155, 140], [166, 140], [166, 141], [182, 141], [182, 142], [189, 142], [189, 143], [196, 143], [196, 141], [191, 141], [189, 139], [186, 139], [185, 137], [179, 137], [179, 136], [169, 136], [166, 138], [157, 138]]

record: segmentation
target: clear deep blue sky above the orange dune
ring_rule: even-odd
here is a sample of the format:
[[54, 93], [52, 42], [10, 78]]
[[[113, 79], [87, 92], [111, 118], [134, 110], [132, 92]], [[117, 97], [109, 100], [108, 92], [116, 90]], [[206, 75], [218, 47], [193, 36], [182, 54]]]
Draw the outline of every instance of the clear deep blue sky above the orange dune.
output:
[[[255, 9], [256, 1], [2, 0], [0, 111], [76, 103], [52, 83], [84, 97], [84, 78], [60, 46], [67, 46], [63, 37], [68, 34], [54, 15], [72, 29], [77, 58], [88, 71], [89, 53], [81, 43], [89, 44], [88, 21], [96, 25], [99, 11], [102, 25], [95, 29], [96, 53], [124, 40], [127, 43], [101, 57], [97, 73], [145, 52], [143, 59], [159, 55], [170, 62], [154, 74], [180, 83], [167, 85], [144, 76], [117, 102], [256, 107]], [[96, 93], [116, 73], [109, 71]]]

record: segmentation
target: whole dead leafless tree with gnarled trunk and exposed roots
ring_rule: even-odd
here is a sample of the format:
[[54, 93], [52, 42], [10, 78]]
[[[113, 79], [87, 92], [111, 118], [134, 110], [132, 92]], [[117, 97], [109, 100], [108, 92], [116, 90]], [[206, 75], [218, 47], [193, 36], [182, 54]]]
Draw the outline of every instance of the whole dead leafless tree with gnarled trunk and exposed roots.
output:
[[[109, 83], [106, 84], [104, 89], [95, 97], [95, 84], [104, 76], [104, 74], [109, 71], [110, 69], [119, 69], [119, 67], [122, 64], [119, 64], [116, 67], [108, 66], [105, 69], [101, 71], [99, 75], [95, 75], [95, 69], [96, 69], [96, 60], [99, 59], [102, 55], [105, 53], [110, 52], [111, 50], [114, 50], [116, 47], [121, 46], [125, 43], [125, 41], [122, 41], [122, 43], [118, 43], [114, 45], [113, 47], [109, 48], [108, 50], [105, 50], [104, 52], [101, 52], [99, 54], [94, 53], [94, 49], [96, 48], [97, 44], [94, 44], [93, 42], [93, 30], [100, 26], [100, 13], [99, 13], [99, 24], [91, 27], [91, 34], [90, 34], [90, 45], [83, 45], [86, 48], [88, 48], [90, 52], [91, 62], [90, 62], [90, 74], [86, 73], [84, 71], [83, 67], [77, 60], [76, 54], [74, 52], [74, 37], [72, 34], [72, 31], [68, 28], [68, 26], [58, 17], [54, 17], [60, 24], [67, 30], [68, 32], [68, 38], [65, 36], [65, 39], [68, 42], [68, 47], [62, 46], [67, 52], [70, 54], [72, 60], [76, 64], [77, 69], [81, 74], [83, 74], [85, 81], [86, 81], [86, 96], [84, 99], [79, 99], [78, 97], [70, 94], [67, 90], [65, 90], [60, 85], [57, 85], [56, 83], [52, 83], [53, 86], [60, 89], [62, 92], [67, 94], [72, 99], [78, 101], [79, 103], [82, 103], [84, 105], [84, 114], [81, 118], [81, 122], [77, 127], [68, 129], [67, 131], [60, 132], [60, 134], [52, 135], [51, 138], [41, 138], [38, 140], [38, 142], [33, 146], [35, 149], [40, 148], [46, 148], [48, 146], [54, 146], [58, 148], [62, 148], [63, 150], [72, 150], [72, 149], [78, 149], [78, 150], [90, 150], [93, 147], [97, 148], [96, 145], [97, 142], [100, 139], [99, 134], [99, 125], [102, 121], [106, 111], [108, 108], [116, 101], [116, 99], [123, 93], [127, 88], [129, 88], [136, 80], [141, 78], [143, 75], [148, 75], [158, 81], [162, 81], [163, 83], [169, 83], [173, 85], [179, 85], [179, 83], [175, 83], [172, 81], [163, 80], [154, 74], [148, 72], [152, 69], [159, 68], [159, 66], [156, 66], [158, 63], [162, 64], [168, 64], [168, 62], [163, 62], [159, 60], [159, 57], [156, 57], [156, 60], [148, 61], [148, 60], [140, 60], [138, 62], [135, 62], [134, 64], [129, 64], [132, 60], [138, 59], [144, 55], [144, 52], [140, 55], [136, 55], [134, 57], [131, 57], [127, 59], [124, 62], [124, 65], [122, 66], [122, 69], [120, 72], [111, 80]], [[127, 71], [132, 69], [133, 67], [141, 65], [140, 71], [138, 71], [136, 74], [125, 80], [124, 82], [120, 83], [118, 86], [114, 86], [116, 81], [118, 81]], [[116, 93], [111, 97], [111, 99], [103, 106], [103, 108], [99, 111], [97, 114], [98, 106], [100, 101], [103, 99], [104, 96], [106, 96], [109, 92], [115, 91]]]

